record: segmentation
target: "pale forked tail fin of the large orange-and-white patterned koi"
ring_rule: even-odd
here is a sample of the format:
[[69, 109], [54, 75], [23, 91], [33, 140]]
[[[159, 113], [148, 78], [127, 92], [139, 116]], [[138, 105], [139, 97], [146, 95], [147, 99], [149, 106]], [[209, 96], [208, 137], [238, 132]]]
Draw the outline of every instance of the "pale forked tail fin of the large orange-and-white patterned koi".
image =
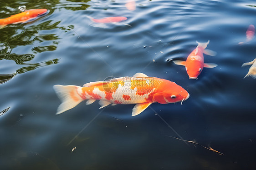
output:
[[61, 100], [61, 105], [59, 105], [56, 115], [72, 109], [83, 100], [77, 94], [77, 88], [81, 88], [81, 87], [76, 85], [54, 85], [53, 86], [53, 89], [55, 90], [57, 96]]

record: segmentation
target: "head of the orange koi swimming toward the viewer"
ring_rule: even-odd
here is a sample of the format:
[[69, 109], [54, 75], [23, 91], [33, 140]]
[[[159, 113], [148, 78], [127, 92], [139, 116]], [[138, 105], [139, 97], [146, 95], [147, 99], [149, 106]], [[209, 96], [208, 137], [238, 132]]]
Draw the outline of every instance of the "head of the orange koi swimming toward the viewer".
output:
[[190, 60], [186, 62], [185, 68], [189, 79], [197, 79], [204, 68], [204, 64], [199, 60]]

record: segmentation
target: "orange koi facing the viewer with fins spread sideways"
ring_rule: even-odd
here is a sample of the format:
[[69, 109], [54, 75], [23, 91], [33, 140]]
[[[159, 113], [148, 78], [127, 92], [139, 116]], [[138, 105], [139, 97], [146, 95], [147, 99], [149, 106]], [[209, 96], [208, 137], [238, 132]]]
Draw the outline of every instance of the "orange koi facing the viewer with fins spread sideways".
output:
[[206, 43], [200, 43], [195, 41], [198, 45], [195, 50], [193, 50], [186, 61], [176, 60], [173, 61], [176, 65], [184, 65], [186, 71], [189, 75], [189, 79], [197, 79], [204, 67], [214, 68], [217, 65], [215, 63], [204, 63], [204, 54], [215, 56], [216, 52], [212, 50], [205, 50], [210, 40]]

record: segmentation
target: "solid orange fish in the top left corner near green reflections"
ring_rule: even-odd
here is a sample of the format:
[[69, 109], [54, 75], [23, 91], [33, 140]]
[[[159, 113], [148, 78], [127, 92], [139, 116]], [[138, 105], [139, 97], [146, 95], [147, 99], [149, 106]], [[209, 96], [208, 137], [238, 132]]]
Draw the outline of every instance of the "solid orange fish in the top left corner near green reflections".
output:
[[26, 10], [19, 14], [11, 15], [8, 18], [0, 19], [0, 27], [4, 27], [9, 24], [18, 24], [23, 23], [28, 20], [32, 20], [39, 15], [46, 14], [46, 9], [35, 9], [35, 10]]

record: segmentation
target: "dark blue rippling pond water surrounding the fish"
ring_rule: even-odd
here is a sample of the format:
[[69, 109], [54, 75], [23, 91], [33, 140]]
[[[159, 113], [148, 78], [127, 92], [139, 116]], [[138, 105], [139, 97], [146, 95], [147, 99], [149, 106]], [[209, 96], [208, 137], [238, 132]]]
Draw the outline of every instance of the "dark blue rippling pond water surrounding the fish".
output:
[[[256, 39], [238, 45], [256, 25], [255, 1], [137, 0], [134, 11], [124, 0], [0, 2], [0, 18], [20, 5], [50, 10], [0, 29], [0, 74], [14, 76], [0, 84], [0, 110], [10, 107], [0, 115], [1, 170], [256, 169], [256, 80], [243, 79], [250, 67], [241, 68], [256, 58]], [[97, 25], [87, 16], [128, 20]], [[205, 55], [218, 66], [203, 69], [199, 80], [167, 61], [185, 60], [195, 40], [210, 40], [207, 48], [217, 52]], [[133, 105], [102, 111], [97, 102], [55, 115], [61, 102], [53, 85], [136, 72], [174, 81], [190, 97], [134, 117]]]

